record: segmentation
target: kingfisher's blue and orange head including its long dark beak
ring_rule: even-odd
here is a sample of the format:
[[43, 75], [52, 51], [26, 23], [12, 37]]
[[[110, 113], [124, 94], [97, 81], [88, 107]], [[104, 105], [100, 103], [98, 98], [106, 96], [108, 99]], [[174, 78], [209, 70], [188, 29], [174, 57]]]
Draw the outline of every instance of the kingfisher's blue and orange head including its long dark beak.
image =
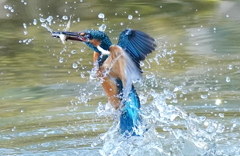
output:
[[61, 34], [65, 35], [65, 40], [83, 42], [100, 54], [103, 50], [109, 51], [109, 47], [112, 45], [109, 37], [104, 32], [98, 30], [84, 30], [82, 32], [53, 32], [52, 36], [61, 38]]

